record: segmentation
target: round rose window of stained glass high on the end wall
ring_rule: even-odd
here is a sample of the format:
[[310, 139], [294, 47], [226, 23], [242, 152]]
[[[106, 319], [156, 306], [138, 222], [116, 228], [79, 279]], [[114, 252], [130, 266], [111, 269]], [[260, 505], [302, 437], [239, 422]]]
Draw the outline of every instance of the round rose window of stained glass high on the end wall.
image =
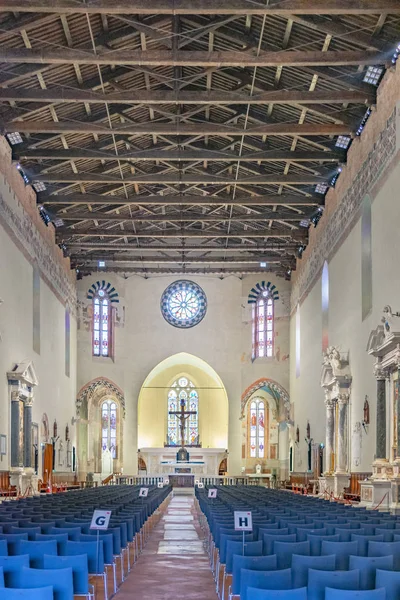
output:
[[204, 318], [206, 311], [206, 295], [193, 281], [175, 281], [161, 296], [162, 315], [174, 327], [194, 327]]

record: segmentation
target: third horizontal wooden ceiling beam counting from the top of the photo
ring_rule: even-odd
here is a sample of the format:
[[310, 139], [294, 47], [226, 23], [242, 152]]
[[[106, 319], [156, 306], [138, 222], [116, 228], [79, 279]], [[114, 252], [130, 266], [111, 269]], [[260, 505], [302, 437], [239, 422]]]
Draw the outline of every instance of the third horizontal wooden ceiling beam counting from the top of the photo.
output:
[[[179, 91], [177, 94], [169, 90], [132, 90], [130, 92], [93, 92], [91, 90], [53, 87], [45, 90], [33, 88], [2, 88], [0, 101], [18, 102], [90, 102], [94, 104], [373, 104], [376, 101], [376, 90], [331, 90], [331, 91], [302, 91], [302, 90], [272, 90], [260, 92], [253, 96], [235, 91], [225, 92], [214, 90]], [[28, 107], [29, 108], [29, 107]]]

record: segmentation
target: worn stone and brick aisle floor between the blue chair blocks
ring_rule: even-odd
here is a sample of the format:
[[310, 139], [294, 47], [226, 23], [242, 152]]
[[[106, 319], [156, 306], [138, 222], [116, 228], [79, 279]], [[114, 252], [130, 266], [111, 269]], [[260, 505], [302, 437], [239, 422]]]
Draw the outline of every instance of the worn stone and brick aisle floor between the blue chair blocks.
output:
[[117, 600], [216, 600], [193, 496], [175, 496], [151, 533]]

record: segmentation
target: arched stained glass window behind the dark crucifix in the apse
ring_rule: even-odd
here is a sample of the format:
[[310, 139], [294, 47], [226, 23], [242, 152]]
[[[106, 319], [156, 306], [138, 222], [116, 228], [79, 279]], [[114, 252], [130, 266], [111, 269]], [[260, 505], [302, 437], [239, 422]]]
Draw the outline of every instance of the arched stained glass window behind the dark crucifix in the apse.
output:
[[180, 377], [171, 386], [168, 392], [168, 445], [180, 445], [180, 420], [171, 412], [179, 412], [183, 404], [185, 411], [194, 414], [185, 420], [185, 445], [195, 446], [199, 443], [199, 396], [187, 377]]

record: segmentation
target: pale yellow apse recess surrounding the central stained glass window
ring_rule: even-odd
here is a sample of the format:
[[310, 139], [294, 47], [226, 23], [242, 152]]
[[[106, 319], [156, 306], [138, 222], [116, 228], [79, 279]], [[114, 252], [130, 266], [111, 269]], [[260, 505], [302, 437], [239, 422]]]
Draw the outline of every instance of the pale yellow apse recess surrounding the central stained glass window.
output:
[[199, 396], [199, 440], [203, 448], [228, 447], [228, 395], [222, 379], [205, 360], [178, 352], [159, 362], [146, 376], [138, 397], [138, 447], [161, 448], [167, 443], [168, 390], [187, 377]]

